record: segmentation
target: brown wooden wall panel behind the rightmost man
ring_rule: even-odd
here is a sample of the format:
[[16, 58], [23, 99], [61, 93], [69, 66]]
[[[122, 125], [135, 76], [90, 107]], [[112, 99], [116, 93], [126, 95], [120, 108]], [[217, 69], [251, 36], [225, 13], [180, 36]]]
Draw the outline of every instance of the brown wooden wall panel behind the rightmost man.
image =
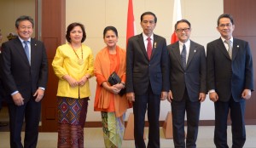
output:
[[[224, 0], [224, 13], [232, 14], [234, 18], [235, 31], [233, 36], [246, 40], [253, 54], [254, 89], [256, 87], [256, 1], [255, 0]], [[256, 124], [256, 93], [247, 100], [246, 124]]]

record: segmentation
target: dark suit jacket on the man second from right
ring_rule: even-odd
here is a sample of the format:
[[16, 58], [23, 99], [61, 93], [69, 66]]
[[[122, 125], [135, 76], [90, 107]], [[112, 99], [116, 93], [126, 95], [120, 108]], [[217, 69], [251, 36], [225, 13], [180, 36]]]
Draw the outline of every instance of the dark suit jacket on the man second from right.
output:
[[207, 59], [205, 48], [190, 40], [189, 58], [184, 69], [179, 43], [167, 46], [170, 59], [170, 89], [173, 100], [182, 100], [187, 88], [189, 100], [198, 101], [199, 93], [207, 93]]

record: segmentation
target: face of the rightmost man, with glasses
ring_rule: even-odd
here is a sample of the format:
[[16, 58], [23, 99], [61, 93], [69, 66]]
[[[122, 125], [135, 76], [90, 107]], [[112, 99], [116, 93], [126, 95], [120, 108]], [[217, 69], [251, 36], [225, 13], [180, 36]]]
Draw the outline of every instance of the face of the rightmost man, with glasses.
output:
[[232, 33], [235, 30], [235, 25], [233, 25], [229, 18], [221, 18], [217, 26], [217, 30], [220, 33], [221, 37], [225, 39], [230, 39]]

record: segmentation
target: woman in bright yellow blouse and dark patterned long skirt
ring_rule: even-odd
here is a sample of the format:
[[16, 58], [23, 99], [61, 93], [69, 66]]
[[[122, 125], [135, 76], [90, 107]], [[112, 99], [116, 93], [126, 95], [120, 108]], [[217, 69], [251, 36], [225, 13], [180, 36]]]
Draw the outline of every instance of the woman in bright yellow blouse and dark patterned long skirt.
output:
[[90, 96], [89, 78], [93, 76], [93, 54], [82, 44], [86, 38], [84, 26], [67, 26], [66, 44], [59, 46], [52, 62], [59, 78], [58, 147], [84, 147], [84, 122]]

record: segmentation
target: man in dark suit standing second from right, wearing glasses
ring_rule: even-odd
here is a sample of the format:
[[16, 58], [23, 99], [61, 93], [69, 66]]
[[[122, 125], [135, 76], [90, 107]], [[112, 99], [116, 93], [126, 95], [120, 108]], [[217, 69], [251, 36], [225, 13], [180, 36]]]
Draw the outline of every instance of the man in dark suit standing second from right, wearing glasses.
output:
[[[189, 39], [191, 25], [188, 20], [175, 24], [178, 42], [167, 46], [170, 59], [170, 92], [172, 128], [175, 147], [196, 147], [201, 102], [207, 94], [207, 57], [205, 48]], [[184, 117], [187, 114], [185, 144]]]

